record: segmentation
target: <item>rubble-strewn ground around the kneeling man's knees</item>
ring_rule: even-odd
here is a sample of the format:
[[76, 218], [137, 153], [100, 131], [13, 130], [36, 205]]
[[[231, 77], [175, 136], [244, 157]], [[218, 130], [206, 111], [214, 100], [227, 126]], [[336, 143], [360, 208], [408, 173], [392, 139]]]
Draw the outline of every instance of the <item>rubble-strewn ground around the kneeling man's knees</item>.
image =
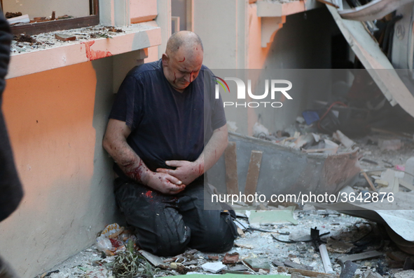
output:
[[[296, 211], [283, 207], [268, 209], [265, 213], [271, 214], [270, 221], [269, 218], [255, 220], [254, 213], [259, 211], [237, 212], [235, 223], [241, 227], [240, 236], [227, 253], [189, 249], [178, 256], [162, 258], [137, 249], [133, 241], [127, 239], [123, 247], [116, 244], [111, 247], [112, 255], [106, 255], [108, 252], [101, 251], [102, 246], [95, 244], [39, 278], [46, 275], [100, 278], [226, 273], [329, 278], [412, 277], [409, 275], [413, 272], [413, 258], [396, 248], [382, 225], [336, 211], [317, 211], [309, 205]], [[290, 218], [280, 218], [280, 211], [289, 211]], [[123, 229], [118, 225], [112, 227], [116, 227], [112, 234], [118, 232], [117, 239], [130, 238], [119, 232]], [[326, 246], [331, 265], [329, 272], [322, 261], [320, 246]], [[350, 273], [349, 276], [342, 276], [345, 272]], [[295, 276], [297, 274], [301, 276]]]

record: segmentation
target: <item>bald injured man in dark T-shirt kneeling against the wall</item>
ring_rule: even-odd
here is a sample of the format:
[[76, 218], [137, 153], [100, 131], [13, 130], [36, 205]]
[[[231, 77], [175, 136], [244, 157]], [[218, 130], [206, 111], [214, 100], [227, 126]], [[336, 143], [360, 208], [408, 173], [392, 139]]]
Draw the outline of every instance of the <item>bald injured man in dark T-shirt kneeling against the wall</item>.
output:
[[221, 253], [237, 228], [221, 204], [209, 204], [204, 173], [228, 143], [221, 98], [202, 65], [202, 41], [172, 34], [163, 58], [134, 67], [120, 86], [103, 140], [113, 157], [114, 194], [137, 246], [158, 256], [187, 248]]

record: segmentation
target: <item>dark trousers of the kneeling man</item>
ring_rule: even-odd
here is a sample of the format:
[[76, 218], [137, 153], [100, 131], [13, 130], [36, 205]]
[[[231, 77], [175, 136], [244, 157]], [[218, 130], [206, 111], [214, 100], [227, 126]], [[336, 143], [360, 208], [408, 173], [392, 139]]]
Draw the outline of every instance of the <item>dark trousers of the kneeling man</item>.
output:
[[237, 228], [230, 213], [211, 200], [203, 180], [175, 195], [162, 194], [138, 183], [115, 180], [116, 203], [136, 229], [137, 245], [158, 256], [175, 256], [186, 247], [221, 253], [233, 246]]

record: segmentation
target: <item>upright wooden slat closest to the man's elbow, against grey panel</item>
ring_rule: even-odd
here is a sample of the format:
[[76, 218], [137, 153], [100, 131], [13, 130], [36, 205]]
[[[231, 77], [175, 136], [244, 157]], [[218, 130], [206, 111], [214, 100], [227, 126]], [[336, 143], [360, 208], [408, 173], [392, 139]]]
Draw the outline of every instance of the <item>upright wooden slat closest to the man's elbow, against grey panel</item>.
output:
[[224, 163], [226, 164], [227, 194], [239, 194], [237, 180], [237, 152], [236, 143], [229, 142], [224, 151]]

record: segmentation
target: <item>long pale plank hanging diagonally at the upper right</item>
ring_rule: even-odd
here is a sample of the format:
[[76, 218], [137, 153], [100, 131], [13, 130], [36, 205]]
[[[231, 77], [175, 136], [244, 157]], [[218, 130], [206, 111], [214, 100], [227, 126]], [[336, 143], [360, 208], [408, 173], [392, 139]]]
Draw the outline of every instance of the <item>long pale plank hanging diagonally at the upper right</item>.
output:
[[389, 103], [392, 106], [399, 104], [403, 110], [414, 117], [414, 96], [396, 74], [394, 67], [387, 56], [382, 53], [378, 43], [366, 32], [363, 23], [341, 18], [336, 8], [332, 6], [326, 6], [326, 8], [331, 12], [352, 51], [368, 70]]

